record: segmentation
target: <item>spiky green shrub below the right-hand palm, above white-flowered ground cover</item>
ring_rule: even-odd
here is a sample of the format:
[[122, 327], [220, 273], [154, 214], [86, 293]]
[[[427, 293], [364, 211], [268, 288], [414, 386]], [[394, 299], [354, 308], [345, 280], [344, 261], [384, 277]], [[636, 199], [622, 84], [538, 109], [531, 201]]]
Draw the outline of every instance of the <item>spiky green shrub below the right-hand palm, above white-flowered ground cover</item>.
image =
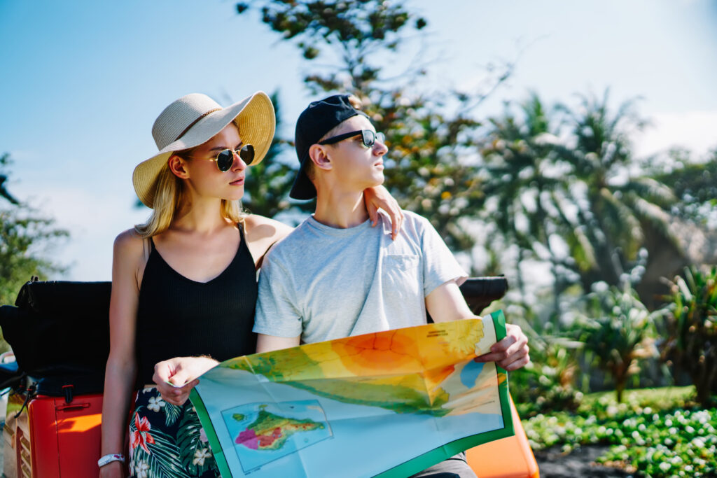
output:
[[587, 296], [587, 316], [579, 321], [579, 340], [589, 364], [612, 377], [618, 403], [640, 361], [657, 356], [655, 315], [630, 287], [596, 287]]

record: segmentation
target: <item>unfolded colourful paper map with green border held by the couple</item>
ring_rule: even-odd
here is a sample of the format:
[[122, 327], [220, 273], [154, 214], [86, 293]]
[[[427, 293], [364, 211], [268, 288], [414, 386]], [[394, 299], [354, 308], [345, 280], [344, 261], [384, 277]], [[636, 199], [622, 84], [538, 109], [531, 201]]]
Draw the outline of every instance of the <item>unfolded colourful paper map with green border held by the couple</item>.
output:
[[513, 435], [503, 312], [258, 353], [191, 393], [224, 478], [407, 477]]

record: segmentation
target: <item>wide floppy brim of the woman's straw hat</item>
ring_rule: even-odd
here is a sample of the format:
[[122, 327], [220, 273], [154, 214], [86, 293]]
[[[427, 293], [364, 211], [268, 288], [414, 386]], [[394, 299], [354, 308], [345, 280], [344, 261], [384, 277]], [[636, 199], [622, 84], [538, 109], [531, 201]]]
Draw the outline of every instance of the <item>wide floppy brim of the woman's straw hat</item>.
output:
[[234, 105], [206, 115], [180, 138], [139, 163], [132, 173], [132, 183], [140, 201], [148, 208], [153, 207], [157, 177], [172, 153], [206, 143], [232, 121], [239, 128], [242, 143], [254, 146], [254, 161], [249, 166], [261, 163], [274, 138], [276, 116], [270, 98], [265, 92], [259, 91]]

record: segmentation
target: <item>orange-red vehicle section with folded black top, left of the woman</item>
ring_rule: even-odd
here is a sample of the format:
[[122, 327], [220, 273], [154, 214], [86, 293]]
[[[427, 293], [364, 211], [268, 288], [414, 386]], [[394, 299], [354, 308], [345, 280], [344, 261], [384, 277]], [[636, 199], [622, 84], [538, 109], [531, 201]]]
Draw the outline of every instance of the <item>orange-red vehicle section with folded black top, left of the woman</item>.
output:
[[102, 391], [110, 350], [109, 282], [28, 282], [0, 328], [16, 362], [4, 436], [7, 478], [97, 477]]

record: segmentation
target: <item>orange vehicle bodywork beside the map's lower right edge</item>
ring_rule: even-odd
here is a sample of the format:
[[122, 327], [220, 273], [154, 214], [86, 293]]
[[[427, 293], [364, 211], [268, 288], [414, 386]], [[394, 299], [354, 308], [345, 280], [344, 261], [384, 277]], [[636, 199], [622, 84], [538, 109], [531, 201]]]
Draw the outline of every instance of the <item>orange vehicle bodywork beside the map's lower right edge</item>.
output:
[[478, 478], [538, 478], [538, 463], [526, 436], [521, 417], [511, 398], [515, 436], [490, 441], [465, 452], [468, 465]]

